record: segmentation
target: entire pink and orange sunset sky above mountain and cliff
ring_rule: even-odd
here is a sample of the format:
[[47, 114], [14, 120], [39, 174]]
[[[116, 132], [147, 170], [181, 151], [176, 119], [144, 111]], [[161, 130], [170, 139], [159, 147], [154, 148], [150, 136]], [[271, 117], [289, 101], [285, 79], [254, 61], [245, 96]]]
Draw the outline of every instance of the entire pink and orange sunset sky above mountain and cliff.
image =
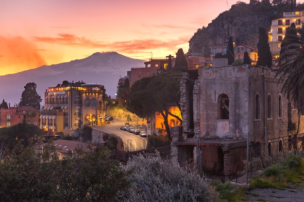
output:
[[0, 0], [0, 76], [95, 52], [145, 61], [186, 53], [194, 33], [236, 2]]

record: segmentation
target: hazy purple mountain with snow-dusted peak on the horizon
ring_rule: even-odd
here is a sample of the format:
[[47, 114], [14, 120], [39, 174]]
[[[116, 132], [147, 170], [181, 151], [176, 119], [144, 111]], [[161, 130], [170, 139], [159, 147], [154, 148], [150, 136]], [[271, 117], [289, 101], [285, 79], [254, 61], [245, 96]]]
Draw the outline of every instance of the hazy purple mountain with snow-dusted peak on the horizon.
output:
[[4, 99], [11, 106], [20, 102], [24, 86], [29, 82], [37, 84], [36, 91], [43, 99], [49, 87], [69, 82], [100, 83], [107, 95], [115, 97], [118, 79], [127, 76], [131, 68], [144, 67], [143, 60], [120, 55], [117, 52], [94, 53], [93, 55], [70, 62], [43, 65], [16, 74], [0, 76], [0, 102]]

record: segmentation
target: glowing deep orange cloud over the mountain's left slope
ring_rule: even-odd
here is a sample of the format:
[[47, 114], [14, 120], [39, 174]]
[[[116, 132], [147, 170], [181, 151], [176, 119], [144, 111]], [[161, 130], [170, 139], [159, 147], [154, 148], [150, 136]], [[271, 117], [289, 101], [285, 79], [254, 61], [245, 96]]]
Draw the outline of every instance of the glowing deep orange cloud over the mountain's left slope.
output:
[[0, 75], [13, 74], [46, 64], [34, 43], [22, 37], [0, 36]]

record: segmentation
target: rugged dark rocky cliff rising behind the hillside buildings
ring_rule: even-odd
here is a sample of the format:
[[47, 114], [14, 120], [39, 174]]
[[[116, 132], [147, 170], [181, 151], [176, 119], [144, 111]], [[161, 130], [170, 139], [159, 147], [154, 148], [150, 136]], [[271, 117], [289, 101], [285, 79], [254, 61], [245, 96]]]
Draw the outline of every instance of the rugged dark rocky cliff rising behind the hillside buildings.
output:
[[[303, 9], [303, 4], [297, 5], [295, 9]], [[210, 46], [224, 45], [229, 36], [232, 36], [236, 44], [256, 47], [258, 28], [264, 27], [269, 31], [271, 20], [282, 17], [282, 12], [288, 10], [293, 9], [287, 5], [239, 2], [212, 20], [208, 27], [194, 33], [189, 41], [188, 53], [203, 53], [209, 57]]]

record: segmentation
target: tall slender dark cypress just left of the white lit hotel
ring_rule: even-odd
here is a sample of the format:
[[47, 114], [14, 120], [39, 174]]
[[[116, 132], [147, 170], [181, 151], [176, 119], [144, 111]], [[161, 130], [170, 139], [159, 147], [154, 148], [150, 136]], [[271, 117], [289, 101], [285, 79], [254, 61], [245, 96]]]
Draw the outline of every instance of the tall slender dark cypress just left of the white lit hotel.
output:
[[268, 35], [265, 28], [259, 27], [259, 42], [257, 43], [257, 65], [271, 67], [272, 56], [268, 43]]

